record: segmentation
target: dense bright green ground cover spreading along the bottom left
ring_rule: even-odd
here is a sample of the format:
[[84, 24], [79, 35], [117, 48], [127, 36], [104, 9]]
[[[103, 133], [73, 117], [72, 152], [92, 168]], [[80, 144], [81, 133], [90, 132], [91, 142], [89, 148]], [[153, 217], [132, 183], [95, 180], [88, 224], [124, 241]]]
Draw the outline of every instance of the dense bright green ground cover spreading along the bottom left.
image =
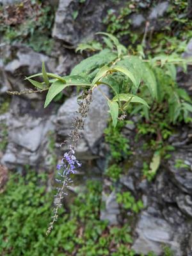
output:
[[88, 181], [86, 191], [74, 196], [70, 208], [60, 209], [58, 225], [47, 239], [54, 191], [46, 192], [47, 175], [28, 168], [25, 172], [26, 176], [10, 174], [6, 190], [0, 194], [1, 255], [134, 255], [129, 226], [110, 228], [100, 221], [99, 181]]

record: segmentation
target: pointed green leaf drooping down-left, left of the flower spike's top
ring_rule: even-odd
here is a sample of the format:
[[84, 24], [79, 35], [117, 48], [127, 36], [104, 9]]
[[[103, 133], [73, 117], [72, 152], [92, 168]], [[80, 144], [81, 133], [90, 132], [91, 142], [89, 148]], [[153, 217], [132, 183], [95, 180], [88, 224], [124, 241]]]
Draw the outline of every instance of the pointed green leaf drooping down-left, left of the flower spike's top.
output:
[[58, 95], [58, 93], [60, 93], [63, 89], [65, 89], [65, 87], [67, 87], [68, 84], [64, 84], [63, 82], [61, 81], [56, 81], [54, 82], [50, 88], [49, 88], [49, 91], [47, 93], [47, 96], [46, 96], [46, 100], [45, 100], [45, 105], [44, 107], [47, 107], [47, 105], [50, 104], [50, 102], [52, 101], [52, 99]]

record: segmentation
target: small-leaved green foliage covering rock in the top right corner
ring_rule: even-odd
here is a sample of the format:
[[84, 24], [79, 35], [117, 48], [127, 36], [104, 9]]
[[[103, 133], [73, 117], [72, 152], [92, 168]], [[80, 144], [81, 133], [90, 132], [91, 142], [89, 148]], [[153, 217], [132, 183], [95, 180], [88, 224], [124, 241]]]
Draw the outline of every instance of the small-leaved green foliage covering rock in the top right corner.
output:
[[[147, 21], [143, 19], [141, 26], [144, 26], [143, 23], [145, 23], [145, 35], [140, 32], [136, 33], [132, 26], [132, 17], [137, 14], [142, 17], [143, 7], [146, 12], [152, 10], [154, 1], [146, 3], [129, 1], [123, 6], [120, 5], [120, 1], [114, 1], [114, 3], [116, 4], [115, 8], [108, 10], [103, 23], [107, 26], [108, 33], [113, 33], [121, 40], [129, 41], [131, 51], [135, 52], [139, 48], [143, 48], [144, 55], [153, 56], [161, 53], [182, 53], [186, 49], [187, 42], [191, 39], [192, 28], [191, 18], [188, 15], [188, 1], [170, 1], [166, 10], [168, 20], [165, 26], [155, 29], [152, 33], [151, 30], [148, 30]], [[158, 20], [164, 23], [164, 17], [159, 17]], [[140, 28], [138, 29], [140, 30]], [[140, 44], [141, 40], [142, 44]]]

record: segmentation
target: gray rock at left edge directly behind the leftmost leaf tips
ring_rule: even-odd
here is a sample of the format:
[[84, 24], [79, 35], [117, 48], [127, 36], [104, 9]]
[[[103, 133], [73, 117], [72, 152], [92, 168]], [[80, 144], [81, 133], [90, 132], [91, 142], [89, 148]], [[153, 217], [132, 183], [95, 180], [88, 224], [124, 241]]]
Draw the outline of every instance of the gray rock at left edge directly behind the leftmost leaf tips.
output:
[[[3, 64], [3, 59], [6, 60]], [[36, 53], [31, 48], [22, 44], [6, 46], [4, 52], [1, 52], [0, 62], [0, 84], [5, 89], [0, 88], [0, 92], [6, 88], [12, 91], [21, 91], [26, 88], [34, 88], [25, 77], [40, 73], [42, 62], [45, 62], [47, 71], [54, 73], [56, 66], [55, 59], [48, 57], [42, 53]], [[1, 87], [1, 86], [0, 86]], [[41, 94], [28, 94], [26, 98], [41, 98]]]

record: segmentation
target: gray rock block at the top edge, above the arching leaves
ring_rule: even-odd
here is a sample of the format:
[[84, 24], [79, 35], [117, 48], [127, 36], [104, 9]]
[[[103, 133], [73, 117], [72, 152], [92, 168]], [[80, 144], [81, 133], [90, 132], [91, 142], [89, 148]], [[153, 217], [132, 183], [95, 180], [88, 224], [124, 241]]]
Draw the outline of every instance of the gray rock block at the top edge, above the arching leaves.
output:
[[60, 0], [52, 36], [67, 44], [92, 39], [95, 32], [102, 30], [102, 18], [109, 5], [107, 2], [99, 0], [95, 5], [95, 1], [79, 3], [77, 0]]

